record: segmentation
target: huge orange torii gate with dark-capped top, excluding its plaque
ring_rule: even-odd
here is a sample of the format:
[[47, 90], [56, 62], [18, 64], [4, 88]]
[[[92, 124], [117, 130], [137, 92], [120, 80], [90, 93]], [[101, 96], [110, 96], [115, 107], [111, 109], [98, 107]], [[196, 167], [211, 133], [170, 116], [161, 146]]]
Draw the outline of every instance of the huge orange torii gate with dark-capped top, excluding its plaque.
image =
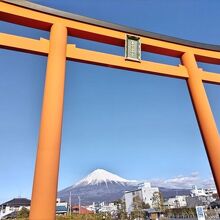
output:
[[[197, 61], [220, 64], [220, 46], [130, 29], [23, 0], [0, 1], [0, 18], [6, 22], [50, 31], [49, 40], [0, 33], [1, 48], [48, 56], [31, 220], [55, 219], [66, 59], [186, 80], [220, 194], [220, 136], [203, 85], [203, 82], [220, 84], [220, 74], [203, 71], [197, 66]], [[126, 34], [140, 36], [142, 51], [177, 57], [181, 59], [182, 65], [134, 62], [122, 56], [67, 44], [69, 35], [124, 47]]]

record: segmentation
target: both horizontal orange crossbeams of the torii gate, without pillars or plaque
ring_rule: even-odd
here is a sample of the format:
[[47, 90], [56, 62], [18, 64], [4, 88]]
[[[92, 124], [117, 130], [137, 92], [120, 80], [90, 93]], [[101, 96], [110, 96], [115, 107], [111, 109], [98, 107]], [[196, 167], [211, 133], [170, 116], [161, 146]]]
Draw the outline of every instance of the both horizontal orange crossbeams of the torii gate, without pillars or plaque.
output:
[[[220, 46], [202, 44], [174, 37], [168, 37], [151, 32], [132, 29], [96, 19], [87, 18], [45, 6], [37, 5], [24, 0], [4, 0], [0, 2], [0, 17], [3, 21], [16, 23], [32, 28], [49, 31], [54, 23], [62, 23], [67, 27], [68, 35], [83, 39], [98, 41], [124, 47], [125, 33], [135, 34], [141, 37], [142, 51], [168, 55], [181, 58], [190, 51], [197, 61], [207, 63], [220, 63]], [[26, 43], [25, 43], [25, 42]], [[14, 43], [14, 44], [13, 44]], [[15, 45], [16, 44], [16, 45]], [[48, 46], [46, 41], [0, 35], [0, 47], [12, 48], [26, 52], [47, 55]], [[137, 72], [150, 72], [171, 77], [187, 78], [188, 74], [183, 66], [172, 66], [149, 61], [142, 64], [125, 62], [120, 56], [91, 52], [67, 46], [67, 59], [79, 62], [87, 62], [114, 68], [134, 70]], [[73, 52], [76, 51], [76, 53]], [[80, 56], [80, 54], [83, 54]], [[95, 56], [94, 56], [95, 55]], [[102, 59], [101, 59], [102, 58]], [[220, 75], [202, 71], [202, 80], [210, 83], [220, 83]]]

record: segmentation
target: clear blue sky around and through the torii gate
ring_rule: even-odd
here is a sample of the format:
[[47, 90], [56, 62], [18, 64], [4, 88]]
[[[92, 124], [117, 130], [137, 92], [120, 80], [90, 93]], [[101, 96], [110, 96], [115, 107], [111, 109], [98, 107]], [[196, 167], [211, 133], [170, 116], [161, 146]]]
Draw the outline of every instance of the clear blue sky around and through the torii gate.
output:
[[[60, 10], [199, 42], [220, 44], [217, 0], [33, 1]], [[0, 23], [31, 38], [47, 32]], [[124, 54], [123, 48], [76, 38], [77, 47]], [[178, 64], [143, 54], [143, 59]], [[214, 65], [200, 67], [220, 72]], [[46, 57], [0, 50], [0, 201], [30, 197]], [[205, 85], [220, 126], [220, 87]], [[67, 62], [59, 189], [96, 168], [127, 179], [190, 186], [212, 175], [186, 82]], [[178, 182], [179, 181], [179, 182]], [[174, 184], [175, 185], [175, 184]]]

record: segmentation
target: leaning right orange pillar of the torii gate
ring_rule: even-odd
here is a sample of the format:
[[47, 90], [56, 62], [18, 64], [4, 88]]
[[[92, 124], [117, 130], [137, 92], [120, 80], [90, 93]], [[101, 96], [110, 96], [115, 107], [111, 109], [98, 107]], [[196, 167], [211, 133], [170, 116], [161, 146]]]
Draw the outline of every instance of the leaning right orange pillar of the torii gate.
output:
[[202, 71], [197, 67], [195, 56], [192, 53], [185, 53], [182, 56], [182, 63], [188, 70], [187, 84], [189, 92], [215, 184], [220, 195], [220, 137], [202, 82]]

